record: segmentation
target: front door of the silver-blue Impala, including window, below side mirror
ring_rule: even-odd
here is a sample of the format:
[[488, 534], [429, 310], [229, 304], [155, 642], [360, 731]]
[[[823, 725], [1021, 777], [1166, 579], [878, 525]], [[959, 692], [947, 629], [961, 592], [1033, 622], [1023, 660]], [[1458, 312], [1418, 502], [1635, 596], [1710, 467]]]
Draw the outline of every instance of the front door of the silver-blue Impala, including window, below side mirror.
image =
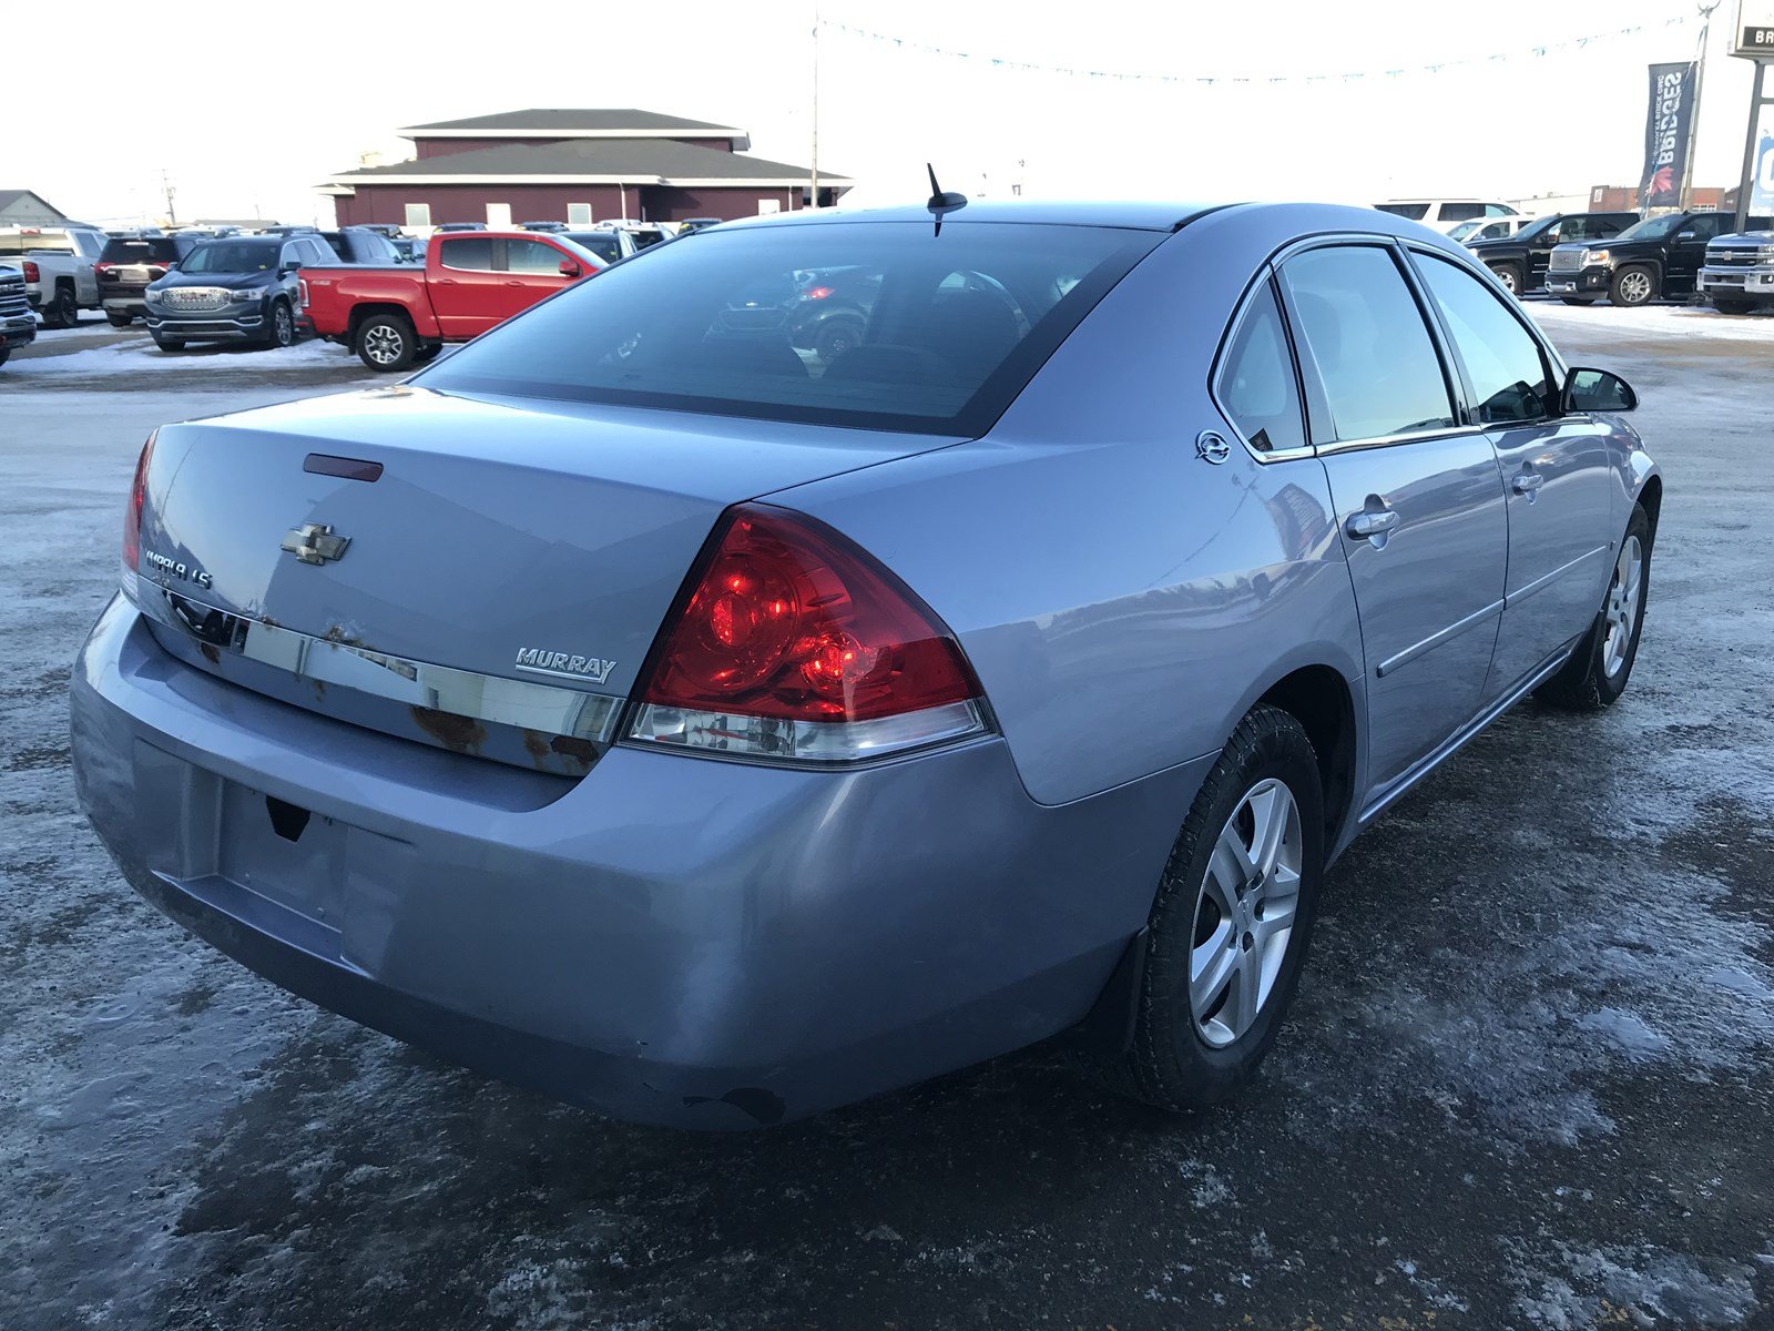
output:
[[1607, 428], [1558, 413], [1556, 362], [1503, 296], [1437, 254], [1412, 252], [1455, 351], [1472, 419], [1497, 451], [1510, 515], [1495, 699], [1574, 639], [1613, 568]]

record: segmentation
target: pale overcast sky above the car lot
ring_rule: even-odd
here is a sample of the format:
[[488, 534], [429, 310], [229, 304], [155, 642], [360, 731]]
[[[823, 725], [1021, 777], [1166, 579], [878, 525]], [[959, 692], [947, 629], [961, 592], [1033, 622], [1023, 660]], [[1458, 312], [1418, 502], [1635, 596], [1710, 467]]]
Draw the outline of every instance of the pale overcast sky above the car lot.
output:
[[[1735, 185], [1740, 167], [1751, 66], [1726, 55], [1735, 7], [1724, 0], [1714, 23], [1696, 185]], [[80, 12], [89, 34], [128, 34], [147, 11], [87, 0]], [[165, 170], [184, 220], [330, 222], [312, 188], [362, 153], [408, 156], [397, 128], [525, 106], [642, 106], [747, 128], [759, 156], [809, 158], [811, 0], [431, 0], [339, 21], [332, 9], [312, 12], [318, 25], [286, 5], [245, 4], [149, 20], [151, 44], [124, 41], [140, 78], [78, 80], [35, 98], [30, 117], [14, 114], [0, 186], [122, 222], [163, 211]], [[632, 18], [603, 21], [612, 12]], [[1692, 16], [1692, 0], [821, 0], [820, 12], [983, 57], [823, 32], [820, 165], [857, 179], [853, 202], [922, 199], [926, 158], [946, 188], [1004, 193], [1020, 179], [1025, 195], [1050, 197], [1368, 202], [1632, 185], [1644, 66], [1691, 57], [1699, 35], [1698, 20], [1660, 27]], [[1659, 27], [1531, 55], [1634, 23]], [[1510, 59], [1382, 75], [1494, 53]], [[1187, 78], [1368, 76], [1178, 87], [1004, 69], [988, 57]], [[179, 69], [200, 73], [184, 87]]]

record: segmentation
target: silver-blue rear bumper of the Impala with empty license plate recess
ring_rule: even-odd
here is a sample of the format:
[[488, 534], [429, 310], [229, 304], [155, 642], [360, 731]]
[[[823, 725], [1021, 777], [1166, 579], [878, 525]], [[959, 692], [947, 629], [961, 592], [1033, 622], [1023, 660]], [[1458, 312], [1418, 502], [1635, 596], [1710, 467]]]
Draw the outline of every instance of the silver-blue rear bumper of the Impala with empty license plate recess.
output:
[[458, 1063], [703, 1129], [1077, 1022], [1205, 772], [1045, 807], [986, 740], [846, 774], [617, 747], [568, 783], [215, 680], [122, 600], [75, 669], [73, 747], [124, 877], [229, 957]]

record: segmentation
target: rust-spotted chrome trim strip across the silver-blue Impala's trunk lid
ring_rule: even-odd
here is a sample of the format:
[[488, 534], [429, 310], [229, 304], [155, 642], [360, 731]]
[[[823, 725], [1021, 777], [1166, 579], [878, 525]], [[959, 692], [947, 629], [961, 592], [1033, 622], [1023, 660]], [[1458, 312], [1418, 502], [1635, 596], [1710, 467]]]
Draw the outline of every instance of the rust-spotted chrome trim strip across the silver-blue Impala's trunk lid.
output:
[[142, 614], [200, 648], [229, 651], [314, 683], [355, 689], [406, 706], [447, 712], [495, 726], [516, 726], [608, 745], [626, 701], [584, 689], [459, 671], [454, 666], [408, 660], [355, 642], [300, 634], [266, 619], [206, 605], [131, 570], [124, 570], [122, 591]]

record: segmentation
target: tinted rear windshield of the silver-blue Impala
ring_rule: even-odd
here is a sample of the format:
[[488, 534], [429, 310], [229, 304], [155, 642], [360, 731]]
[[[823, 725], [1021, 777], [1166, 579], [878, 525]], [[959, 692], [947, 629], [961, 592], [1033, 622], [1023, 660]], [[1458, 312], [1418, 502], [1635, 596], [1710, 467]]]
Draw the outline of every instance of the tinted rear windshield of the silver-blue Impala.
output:
[[979, 435], [1160, 240], [1112, 227], [715, 229], [463, 346], [428, 389]]

